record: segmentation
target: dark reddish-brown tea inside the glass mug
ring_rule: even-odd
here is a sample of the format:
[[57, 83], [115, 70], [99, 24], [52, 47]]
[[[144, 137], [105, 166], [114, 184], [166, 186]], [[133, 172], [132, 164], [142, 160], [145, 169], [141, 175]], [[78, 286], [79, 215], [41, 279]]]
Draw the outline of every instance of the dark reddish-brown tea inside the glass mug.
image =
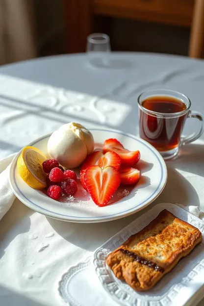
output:
[[[186, 109], [185, 103], [173, 97], [150, 97], [142, 102], [146, 109], [158, 113], [177, 113]], [[148, 115], [140, 110], [140, 135], [159, 151], [176, 148], [180, 141], [183, 124], [187, 117], [168, 118]]]

